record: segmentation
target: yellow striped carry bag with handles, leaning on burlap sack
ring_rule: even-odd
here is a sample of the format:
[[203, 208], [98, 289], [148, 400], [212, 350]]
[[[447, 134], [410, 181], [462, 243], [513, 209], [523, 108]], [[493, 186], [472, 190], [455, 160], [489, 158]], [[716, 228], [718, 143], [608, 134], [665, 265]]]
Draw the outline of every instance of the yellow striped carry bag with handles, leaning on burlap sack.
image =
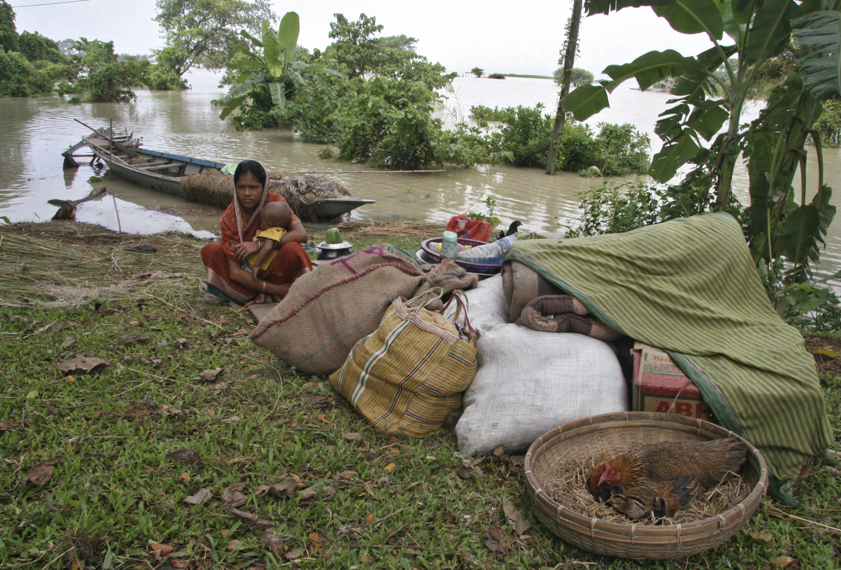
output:
[[442, 295], [436, 292], [416, 307], [410, 305], [420, 297], [395, 299], [379, 328], [330, 376], [336, 392], [383, 433], [421, 437], [438, 429], [462, 407], [462, 393], [476, 375], [476, 334], [463, 292], [450, 298], [458, 303], [452, 322], [425, 308]]

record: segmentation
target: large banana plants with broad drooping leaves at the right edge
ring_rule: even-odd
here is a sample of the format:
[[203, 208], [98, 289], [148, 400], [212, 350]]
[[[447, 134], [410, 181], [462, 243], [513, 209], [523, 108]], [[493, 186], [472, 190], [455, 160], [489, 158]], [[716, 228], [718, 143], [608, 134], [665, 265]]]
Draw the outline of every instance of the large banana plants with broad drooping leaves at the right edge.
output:
[[[569, 93], [563, 108], [584, 120], [609, 106], [609, 94], [635, 79], [645, 89], [675, 79], [674, 107], [660, 115], [655, 131], [663, 139], [649, 173], [658, 182], [673, 178], [686, 162], [700, 163], [709, 152], [711, 184], [717, 209], [731, 201], [733, 169], [739, 154], [748, 161], [751, 204], [748, 241], [757, 263], [784, 257], [789, 277], [802, 280], [817, 262], [835, 208], [832, 189], [823, 184], [820, 140], [812, 123], [820, 101], [841, 94], [841, 15], [839, 0], [587, 0], [588, 15], [628, 6], [650, 6], [669, 25], [685, 34], [706, 34], [711, 48], [694, 57], [677, 51], [649, 51], [631, 63], [605, 69], [610, 79]], [[799, 61], [785, 86], [771, 98], [749, 129], [741, 125], [748, 88], [764, 61], [791, 51]], [[724, 73], [719, 72], [723, 69]], [[726, 125], [726, 130], [722, 127]], [[806, 202], [804, 148], [816, 141], [819, 162], [817, 194]], [[709, 150], [706, 150], [708, 147]], [[800, 204], [791, 182], [801, 167]], [[691, 175], [691, 173], [690, 173]]]

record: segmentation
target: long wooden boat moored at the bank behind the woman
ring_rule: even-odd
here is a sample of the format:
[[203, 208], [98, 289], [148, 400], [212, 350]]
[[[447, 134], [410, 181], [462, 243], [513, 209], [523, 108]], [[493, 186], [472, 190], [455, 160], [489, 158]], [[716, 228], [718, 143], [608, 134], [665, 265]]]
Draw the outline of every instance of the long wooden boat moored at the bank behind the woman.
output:
[[[221, 169], [225, 167], [225, 164], [221, 162], [140, 148], [140, 142], [136, 141], [133, 138], [133, 133], [128, 131], [115, 134], [110, 132], [109, 129], [94, 130], [92, 127], [88, 128], [94, 131], [91, 136], [82, 136], [80, 143], [71, 146], [62, 153], [66, 164], [68, 159], [72, 160], [72, 157], [80, 156], [74, 154], [74, 152], [82, 146], [87, 146], [91, 149], [93, 155], [82, 156], [93, 156], [91, 162], [99, 159], [108, 164], [112, 172], [120, 178], [145, 188], [159, 190], [182, 198], [188, 197], [184, 195], [180, 178], [190, 174], [203, 173], [208, 168]], [[195, 200], [194, 197], [193, 200]], [[332, 220], [361, 205], [373, 204], [374, 202], [376, 200], [363, 200], [353, 196], [327, 198], [315, 206], [315, 216], [321, 220]]]

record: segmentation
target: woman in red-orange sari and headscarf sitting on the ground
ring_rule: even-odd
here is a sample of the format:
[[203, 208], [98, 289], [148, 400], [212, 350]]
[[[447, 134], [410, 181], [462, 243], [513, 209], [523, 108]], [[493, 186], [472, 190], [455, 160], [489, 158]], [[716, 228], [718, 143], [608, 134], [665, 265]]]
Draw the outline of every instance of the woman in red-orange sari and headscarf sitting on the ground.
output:
[[[301, 247], [301, 243], [308, 240], [307, 232], [298, 216], [292, 214], [288, 226], [282, 228], [286, 232], [274, 232], [278, 241], [268, 237], [271, 248], [277, 251], [274, 258], [268, 264], [262, 264], [265, 269], [255, 267], [251, 273], [248, 258], [261, 253], [263, 245], [267, 246], [267, 241], [253, 241], [261, 229], [261, 211], [267, 204], [286, 204], [280, 194], [269, 191], [268, 182], [268, 173], [260, 162], [240, 162], [234, 172], [234, 198], [219, 221], [221, 242], [209, 243], [202, 249], [202, 262], [208, 270], [208, 292], [225, 301], [239, 304], [279, 301], [286, 296], [294, 280], [313, 269], [309, 256]], [[270, 209], [276, 210], [273, 206]], [[266, 227], [262, 229], [268, 229], [272, 219], [275, 218], [265, 216], [263, 226]], [[258, 257], [263, 261], [270, 255], [263, 251]], [[251, 264], [254, 260], [252, 258]]]

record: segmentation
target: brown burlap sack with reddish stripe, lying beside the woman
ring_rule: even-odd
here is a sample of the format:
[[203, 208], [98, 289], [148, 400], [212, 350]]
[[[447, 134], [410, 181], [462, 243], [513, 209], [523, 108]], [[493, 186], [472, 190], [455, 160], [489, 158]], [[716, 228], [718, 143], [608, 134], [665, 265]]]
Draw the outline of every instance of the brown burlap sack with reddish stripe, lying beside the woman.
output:
[[[432, 287], [473, 289], [476, 275], [452, 260], [424, 265], [415, 255], [378, 243], [320, 265], [294, 282], [288, 295], [251, 333], [251, 342], [309, 374], [331, 374], [357, 341], [373, 333], [397, 297]], [[429, 308], [442, 308], [436, 301]]]

